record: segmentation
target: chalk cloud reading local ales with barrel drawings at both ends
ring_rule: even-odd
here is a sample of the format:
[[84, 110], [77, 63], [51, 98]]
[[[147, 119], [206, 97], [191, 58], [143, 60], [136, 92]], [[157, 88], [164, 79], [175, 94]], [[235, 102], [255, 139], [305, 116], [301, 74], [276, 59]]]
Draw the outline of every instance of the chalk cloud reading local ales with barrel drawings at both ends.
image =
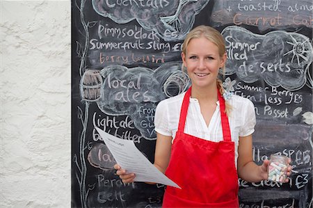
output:
[[87, 70], [81, 79], [80, 90], [82, 99], [96, 102], [103, 113], [129, 115], [141, 135], [154, 140], [154, 121], [145, 115], [154, 115], [161, 100], [183, 93], [190, 85], [188, 75], [182, 72], [182, 61], [177, 61], [164, 63], [156, 70], [122, 65]]

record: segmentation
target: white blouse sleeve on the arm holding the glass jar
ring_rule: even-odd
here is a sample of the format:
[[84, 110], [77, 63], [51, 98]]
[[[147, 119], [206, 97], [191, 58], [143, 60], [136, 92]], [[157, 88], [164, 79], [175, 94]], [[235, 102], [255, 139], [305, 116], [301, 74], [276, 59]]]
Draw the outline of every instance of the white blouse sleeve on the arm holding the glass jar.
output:
[[243, 125], [239, 131], [239, 136], [249, 136], [255, 131], [255, 105], [248, 99], [246, 106], [243, 108]]

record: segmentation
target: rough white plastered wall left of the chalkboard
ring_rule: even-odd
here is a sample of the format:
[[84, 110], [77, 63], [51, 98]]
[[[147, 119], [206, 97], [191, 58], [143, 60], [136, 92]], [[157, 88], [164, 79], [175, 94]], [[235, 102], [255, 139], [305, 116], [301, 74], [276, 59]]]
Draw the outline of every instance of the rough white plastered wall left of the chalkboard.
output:
[[0, 207], [70, 207], [70, 14], [0, 0]]

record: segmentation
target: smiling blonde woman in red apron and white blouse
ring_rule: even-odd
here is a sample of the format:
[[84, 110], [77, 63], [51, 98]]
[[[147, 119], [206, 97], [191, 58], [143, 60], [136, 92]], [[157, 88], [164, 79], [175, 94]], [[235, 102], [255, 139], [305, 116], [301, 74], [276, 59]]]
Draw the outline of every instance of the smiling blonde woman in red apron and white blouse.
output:
[[[191, 88], [161, 101], [154, 117], [154, 166], [182, 187], [166, 188], [163, 207], [239, 207], [238, 177], [268, 177], [268, 160], [257, 166], [252, 159], [252, 102], [225, 93], [218, 79], [226, 59], [223, 36], [215, 29], [198, 26], [186, 36], [182, 61]], [[115, 169], [123, 182], [134, 181], [133, 173]]]

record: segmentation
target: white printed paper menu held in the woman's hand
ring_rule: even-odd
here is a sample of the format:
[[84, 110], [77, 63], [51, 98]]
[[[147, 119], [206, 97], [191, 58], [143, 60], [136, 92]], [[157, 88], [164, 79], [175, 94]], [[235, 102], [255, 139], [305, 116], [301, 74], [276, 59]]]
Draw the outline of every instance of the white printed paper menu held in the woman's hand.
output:
[[133, 141], [112, 136], [95, 127], [115, 161], [127, 172], [135, 173], [135, 182], [154, 182], [181, 189], [158, 170], [136, 147]]

